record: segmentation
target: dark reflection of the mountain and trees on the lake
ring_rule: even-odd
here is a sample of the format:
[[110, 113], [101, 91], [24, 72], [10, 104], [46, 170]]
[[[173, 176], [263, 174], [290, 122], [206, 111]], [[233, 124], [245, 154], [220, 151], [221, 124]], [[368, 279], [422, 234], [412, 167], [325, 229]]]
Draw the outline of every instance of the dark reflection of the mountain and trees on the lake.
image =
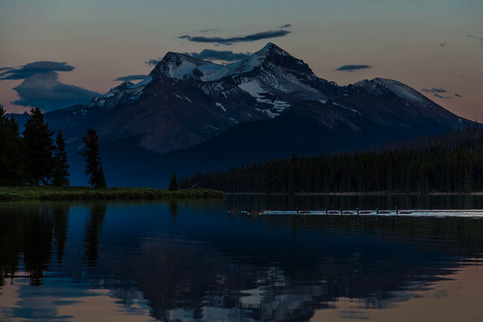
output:
[[[241, 207], [237, 200], [96, 202], [72, 215], [68, 203], [3, 206], [0, 283], [22, 272], [39, 288], [46, 271], [80, 276], [110, 290], [126, 312], [146, 299], [162, 321], [306, 320], [339, 298], [391, 308], [483, 251], [482, 219], [265, 214], [248, 221], [227, 217], [225, 202]], [[286, 206], [295, 203], [306, 206]]]

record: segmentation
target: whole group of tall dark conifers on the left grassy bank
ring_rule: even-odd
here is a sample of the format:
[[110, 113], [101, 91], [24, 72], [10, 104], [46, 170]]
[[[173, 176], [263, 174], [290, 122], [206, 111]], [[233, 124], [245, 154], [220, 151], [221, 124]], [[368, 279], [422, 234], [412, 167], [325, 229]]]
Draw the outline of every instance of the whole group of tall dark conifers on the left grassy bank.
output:
[[[68, 158], [66, 141], [61, 130], [55, 143], [39, 108], [30, 110], [23, 132], [13, 115], [8, 117], [0, 105], [0, 185], [56, 185], [68, 186]], [[95, 130], [89, 129], [82, 138], [85, 148], [81, 151], [90, 176], [89, 184], [95, 188], [106, 188], [99, 143]]]

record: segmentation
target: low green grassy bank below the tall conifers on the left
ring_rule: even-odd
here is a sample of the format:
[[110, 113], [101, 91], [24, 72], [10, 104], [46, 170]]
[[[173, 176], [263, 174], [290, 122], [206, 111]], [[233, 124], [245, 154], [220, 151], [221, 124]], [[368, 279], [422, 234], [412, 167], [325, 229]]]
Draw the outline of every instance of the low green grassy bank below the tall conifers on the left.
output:
[[182, 189], [170, 191], [155, 188], [90, 187], [0, 187], [0, 201], [15, 200], [135, 200], [135, 199], [196, 199], [219, 198], [224, 193], [212, 189]]

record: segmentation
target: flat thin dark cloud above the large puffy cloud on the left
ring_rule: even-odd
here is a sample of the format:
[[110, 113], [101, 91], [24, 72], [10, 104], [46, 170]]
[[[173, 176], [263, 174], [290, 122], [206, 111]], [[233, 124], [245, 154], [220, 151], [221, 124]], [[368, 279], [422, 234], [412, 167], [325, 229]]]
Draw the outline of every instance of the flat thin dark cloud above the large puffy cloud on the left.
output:
[[57, 61], [34, 61], [26, 65], [0, 73], [0, 79], [27, 79], [34, 74], [48, 72], [71, 72], [74, 67]]

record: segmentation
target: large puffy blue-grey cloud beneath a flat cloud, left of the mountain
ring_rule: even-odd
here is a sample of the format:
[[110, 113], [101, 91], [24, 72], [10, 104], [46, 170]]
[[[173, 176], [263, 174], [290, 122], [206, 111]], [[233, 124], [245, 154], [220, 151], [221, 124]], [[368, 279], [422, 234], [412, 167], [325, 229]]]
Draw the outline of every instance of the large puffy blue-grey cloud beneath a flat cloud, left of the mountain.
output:
[[15, 105], [38, 106], [44, 111], [68, 108], [76, 104], [89, 103], [99, 93], [59, 81], [57, 72], [39, 72], [27, 77], [20, 85], [13, 88], [20, 99]]

